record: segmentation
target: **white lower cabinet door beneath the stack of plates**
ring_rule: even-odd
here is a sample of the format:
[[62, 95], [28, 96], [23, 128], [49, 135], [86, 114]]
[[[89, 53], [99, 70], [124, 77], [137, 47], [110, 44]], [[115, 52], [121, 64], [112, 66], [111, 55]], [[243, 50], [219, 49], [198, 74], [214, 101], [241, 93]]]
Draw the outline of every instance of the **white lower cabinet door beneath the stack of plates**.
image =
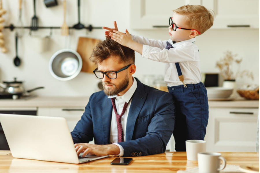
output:
[[255, 152], [258, 108], [209, 108], [209, 152]]

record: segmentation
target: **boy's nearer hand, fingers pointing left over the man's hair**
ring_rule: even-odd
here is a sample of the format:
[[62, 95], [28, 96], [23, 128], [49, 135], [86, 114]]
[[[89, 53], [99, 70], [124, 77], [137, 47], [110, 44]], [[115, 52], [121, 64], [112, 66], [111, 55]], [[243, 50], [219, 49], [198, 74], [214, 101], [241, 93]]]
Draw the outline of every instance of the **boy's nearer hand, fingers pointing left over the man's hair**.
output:
[[126, 47], [131, 47], [131, 43], [134, 42], [127, 29], [125, 30], [125, 33], [114, 30], [113, 32], [110, 32], [109, 36], [112, 40]]

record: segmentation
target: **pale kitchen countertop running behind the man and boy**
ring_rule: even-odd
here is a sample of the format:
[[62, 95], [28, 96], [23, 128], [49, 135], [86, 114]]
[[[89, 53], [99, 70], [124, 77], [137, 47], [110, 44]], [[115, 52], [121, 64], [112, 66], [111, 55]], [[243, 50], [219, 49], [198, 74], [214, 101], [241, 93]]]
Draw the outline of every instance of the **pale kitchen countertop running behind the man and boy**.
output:
[[[0, 99], [0, 108], [10, 107], [85, 107], [89, 97], [34, 97], [28, 100]], [[259, 100], [209, 101], [209, 108], [258, 108]]]

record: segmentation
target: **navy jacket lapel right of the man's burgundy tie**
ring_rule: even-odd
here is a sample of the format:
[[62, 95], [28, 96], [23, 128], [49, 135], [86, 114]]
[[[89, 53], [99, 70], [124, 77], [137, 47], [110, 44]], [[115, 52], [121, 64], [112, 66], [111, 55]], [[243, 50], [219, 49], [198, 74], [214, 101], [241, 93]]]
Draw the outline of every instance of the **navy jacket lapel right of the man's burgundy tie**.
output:
[[126, 141], [132, 140], [133, 131], [135, 127], [135, 121], [144, 105], [146, 100], [147, 93], [144, 93], [143, 84], [135, 78], [137, 81], [137, 88], [133, 94], [133, 99], [131, 101], [130, 110], [127, 118], [127, 127], [126, 127]]

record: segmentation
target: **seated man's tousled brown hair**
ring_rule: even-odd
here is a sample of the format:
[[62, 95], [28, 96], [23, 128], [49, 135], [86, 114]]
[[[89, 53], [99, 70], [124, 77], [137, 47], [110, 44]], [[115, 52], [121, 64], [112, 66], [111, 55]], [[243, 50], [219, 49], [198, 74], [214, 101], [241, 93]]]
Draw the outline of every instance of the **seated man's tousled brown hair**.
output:
[[119, 56], [120, 63], [126, 65], [135, 63], [135, 51], [122, 46], [110, 38], [106, 38], [106, 40], [96, 45], [90, 56], [90, 61], [94, 62], [97, 66], [111, 56]]

